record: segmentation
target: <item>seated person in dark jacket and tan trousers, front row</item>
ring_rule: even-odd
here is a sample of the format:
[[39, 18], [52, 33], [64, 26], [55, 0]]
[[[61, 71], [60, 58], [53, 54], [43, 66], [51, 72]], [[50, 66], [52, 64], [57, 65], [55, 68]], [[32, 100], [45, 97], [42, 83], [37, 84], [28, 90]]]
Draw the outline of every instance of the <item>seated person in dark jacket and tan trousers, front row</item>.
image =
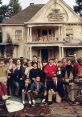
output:
[[48, 104], [52, 104], [53, 96], [56, 98], [56, 102], [60, 103], [62, 97], [64, 96], [63, 83], [58, 80], [56, 74], [51, 78], [51, 81], [47, 83], [48, 91]]

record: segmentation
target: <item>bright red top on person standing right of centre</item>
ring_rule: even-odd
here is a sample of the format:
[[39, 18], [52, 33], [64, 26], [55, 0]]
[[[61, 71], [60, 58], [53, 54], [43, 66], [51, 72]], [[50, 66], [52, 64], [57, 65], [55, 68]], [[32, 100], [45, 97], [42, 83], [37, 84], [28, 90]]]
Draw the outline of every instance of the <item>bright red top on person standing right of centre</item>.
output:
[[48, 77], [52, 77], [53, 74], [56, 74], [56, 65], [55, 64], [47, 64], [44, 68], [44, 72]]

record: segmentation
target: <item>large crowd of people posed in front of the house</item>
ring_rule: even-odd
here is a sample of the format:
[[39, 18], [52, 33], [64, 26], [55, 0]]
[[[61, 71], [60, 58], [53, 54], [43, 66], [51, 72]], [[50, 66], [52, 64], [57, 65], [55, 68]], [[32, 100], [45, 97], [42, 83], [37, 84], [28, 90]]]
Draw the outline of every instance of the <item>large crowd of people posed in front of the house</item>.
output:
[[[63, 58], [41, 61], [40, 57], [33, 56], [32, 61], [24, 59], [8, 62], [0, 60], [0, 99], [5, 100], [9, 96], [17, 96], [22, 103], [27, 101], [29, 105], [35, 105], [36, 99], [41, 103], [51, 104], [54, 100], [60, 103], [65, 97], [66, 83], [72, 83], [74, 79], [82, 77], [82, 59], [77, 61]], [[73, 94], [72, 101], [74, 101]]]

